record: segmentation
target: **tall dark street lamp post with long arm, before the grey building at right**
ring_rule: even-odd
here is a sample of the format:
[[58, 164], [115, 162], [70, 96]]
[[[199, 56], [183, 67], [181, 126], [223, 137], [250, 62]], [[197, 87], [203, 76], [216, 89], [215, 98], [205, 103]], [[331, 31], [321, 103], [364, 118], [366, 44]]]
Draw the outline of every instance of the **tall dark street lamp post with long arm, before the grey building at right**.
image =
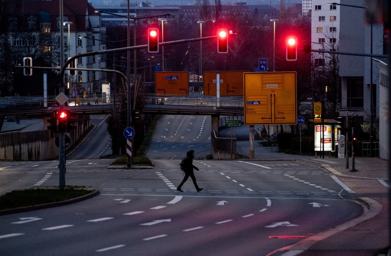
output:
[[[342, 4], [342, 3], [327, 3], [328, 5], [340, 5], [347, 6], [353, 8], [367, 9], [368, 6], [359, 6], [359, 5], [351, 5], [351, 4]], [[373, 53], [373, 21], [370, 21], [370, 54]], [[369, 84], [369, 155], [373, 157], [373, 60], [370, 58], [370, 84]], [[347, 117], [348, 118], [348, 117]]]

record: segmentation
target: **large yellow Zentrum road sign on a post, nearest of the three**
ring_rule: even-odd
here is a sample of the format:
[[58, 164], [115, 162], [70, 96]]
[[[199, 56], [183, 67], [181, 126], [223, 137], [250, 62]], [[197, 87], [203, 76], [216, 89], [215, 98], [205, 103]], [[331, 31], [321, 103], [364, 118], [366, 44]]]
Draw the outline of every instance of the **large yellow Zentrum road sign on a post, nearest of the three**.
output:
[[245, 125], [296, 123], [296, 72], [244, 73]]

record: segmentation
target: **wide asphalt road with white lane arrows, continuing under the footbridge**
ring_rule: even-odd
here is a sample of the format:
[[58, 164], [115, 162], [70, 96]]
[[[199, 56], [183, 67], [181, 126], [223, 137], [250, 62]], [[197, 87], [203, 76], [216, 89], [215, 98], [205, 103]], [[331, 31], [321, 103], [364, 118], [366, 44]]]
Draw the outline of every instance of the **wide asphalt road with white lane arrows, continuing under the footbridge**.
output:
[[[259, 256], [362, 213], [350, 200], [355, 191], [310, 162], [200, 160], [210, 152], [208, 119], [160, 120], [147, 153], [153, 169], [69, 159], [66, 184], [93, 186], [100, 195], [0, 216], [0, 255]], [[84, 150], [103, 144], [87, 142]], [[178, 164], [190, 149], [202, 192], [191, 180], [176, 191], [183, 178]], [[55, 167], [55, 161], [1, 162], [0, 188], [58, 185]]]

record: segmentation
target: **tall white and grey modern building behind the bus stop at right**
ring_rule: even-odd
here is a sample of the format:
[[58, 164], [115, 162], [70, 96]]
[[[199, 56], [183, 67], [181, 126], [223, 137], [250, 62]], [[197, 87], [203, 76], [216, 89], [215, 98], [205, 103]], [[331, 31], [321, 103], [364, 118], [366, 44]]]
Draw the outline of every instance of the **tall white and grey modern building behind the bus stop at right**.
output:
[[[367, 21], [365, 4], [364, 0], [339, 0], [338, 4], [312, 0], [312, 49], [387, 55], [383, 25]], [[312, 56], [315, 65], [330, 65], [329, 55], [313, 53]], [[372, 121], [374, 127], [378, 127], [379, 102], [382, 100], [379, 70], [379, 62], [371, 61], [370, 57], [339, 55], [340, 116], [354, 115], [364, 122]], [[376, 134], [377, 129], [372, 129], [373, 141], [379, 141]]]

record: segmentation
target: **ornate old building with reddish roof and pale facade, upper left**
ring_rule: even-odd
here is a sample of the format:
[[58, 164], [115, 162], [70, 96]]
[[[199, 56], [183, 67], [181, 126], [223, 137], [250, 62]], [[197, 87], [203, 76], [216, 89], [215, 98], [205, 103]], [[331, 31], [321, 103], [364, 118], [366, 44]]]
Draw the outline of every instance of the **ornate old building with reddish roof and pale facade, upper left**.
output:
[[[64, 47], [64, 60], [78, 54], [105, 49], [105, 43], [98, 41], [105, 34], [100, 13], [87, 0], [64, 1], [64, 45], [60, 45], [59, 0], [16, 0], [6, 9], [6, 40], [15, 56], [15, 64], [23, 57], [31, 57], [33, 66], [45, 58], [41, 65], [48, 67], [60, 64], [60, 47]], [[95, 40], [97, 39], [97, 40]], [[37, 64], [35, 64], [37, 65]], [[106, 63], [98, 56], [79, 58], [77, 68], [102, 69]], [[67, 72], [69, 93], [92, 94], [101, 92], [101, 83], [106, 74], [99, 71], [76, 70]]]

